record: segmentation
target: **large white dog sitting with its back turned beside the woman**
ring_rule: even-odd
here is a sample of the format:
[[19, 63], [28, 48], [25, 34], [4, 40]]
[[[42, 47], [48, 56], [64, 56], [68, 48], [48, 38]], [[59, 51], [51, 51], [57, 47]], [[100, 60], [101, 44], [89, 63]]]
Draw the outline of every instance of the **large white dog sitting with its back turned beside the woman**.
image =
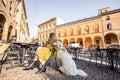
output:
[[76, 64], [70, 54], [67, 52], [65, 47], [60, 41], [56, 41], [53, 43], [55, 50], [57, 51], [57, 58], [60, 59], [61, 66], [59, 68], [60, 71], [67, 75], [80, 75], [83, 77], [87, 76], [87, 73], [84, 71], [77, 69]]

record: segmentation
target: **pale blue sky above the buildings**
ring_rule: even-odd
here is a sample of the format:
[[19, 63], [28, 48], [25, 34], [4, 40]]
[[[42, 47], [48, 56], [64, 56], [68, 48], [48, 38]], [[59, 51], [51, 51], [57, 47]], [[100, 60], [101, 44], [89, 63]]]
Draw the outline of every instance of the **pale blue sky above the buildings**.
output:
[[65, 23], [98, 15], [98, 10], [120, 9], [120, 0], [24, 0], [30, 38], [37, 36], [38, 25], [55, 17]]

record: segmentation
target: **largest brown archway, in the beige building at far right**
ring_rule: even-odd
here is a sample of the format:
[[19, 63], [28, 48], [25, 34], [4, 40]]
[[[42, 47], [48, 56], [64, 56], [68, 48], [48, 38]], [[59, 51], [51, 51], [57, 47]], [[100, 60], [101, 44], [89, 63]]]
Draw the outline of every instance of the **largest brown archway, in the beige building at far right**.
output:
[[115, 33], [108, 33], [104, 36], [104, 42], [107, 45], [110, 44], [119, 44], [118, 37]]

